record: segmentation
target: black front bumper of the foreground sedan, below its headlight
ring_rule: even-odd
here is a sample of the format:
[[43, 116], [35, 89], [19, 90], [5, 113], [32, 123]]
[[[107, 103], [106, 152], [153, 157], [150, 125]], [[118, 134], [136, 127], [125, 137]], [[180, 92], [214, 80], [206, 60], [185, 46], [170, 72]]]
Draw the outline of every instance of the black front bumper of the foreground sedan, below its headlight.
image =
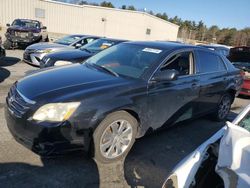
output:
[[5, 107], [8, 129], [15, 140], [41, 156], [50, 156], [72, 150], [88, 150], [89, 132], [78, 135], [69, 122], [42, 125], [17, 118]]

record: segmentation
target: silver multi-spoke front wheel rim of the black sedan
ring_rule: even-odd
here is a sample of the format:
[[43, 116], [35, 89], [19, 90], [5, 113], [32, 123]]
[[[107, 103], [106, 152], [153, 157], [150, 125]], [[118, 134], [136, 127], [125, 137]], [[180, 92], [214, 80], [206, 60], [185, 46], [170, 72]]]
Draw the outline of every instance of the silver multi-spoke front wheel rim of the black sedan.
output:
[[130, 146], [132, 137], [133, 130], [128, 121], [114, 121], [104, 130], [101, 136], [101, 154], [108, 159], [122, 155]]

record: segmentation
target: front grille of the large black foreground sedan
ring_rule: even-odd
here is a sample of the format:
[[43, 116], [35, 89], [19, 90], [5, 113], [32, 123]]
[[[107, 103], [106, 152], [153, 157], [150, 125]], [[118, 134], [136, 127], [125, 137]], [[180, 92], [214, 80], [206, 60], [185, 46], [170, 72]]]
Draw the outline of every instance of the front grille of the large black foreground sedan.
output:
[[18, 118], [21, 118], [34, 104], [33, 101], [25, 98], [15, 86], [11, 87], [6, 102], [10, 112]]

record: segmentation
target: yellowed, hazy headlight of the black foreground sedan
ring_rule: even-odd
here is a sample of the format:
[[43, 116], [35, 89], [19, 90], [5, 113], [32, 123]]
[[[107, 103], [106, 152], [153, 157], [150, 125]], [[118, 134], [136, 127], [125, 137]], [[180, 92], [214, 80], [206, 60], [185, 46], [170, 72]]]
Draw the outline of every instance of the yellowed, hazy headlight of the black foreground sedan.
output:
[[62, 122], [70, 118], [80, 102], [50, 103], [40, 107], [33, 115], [33, 120]]

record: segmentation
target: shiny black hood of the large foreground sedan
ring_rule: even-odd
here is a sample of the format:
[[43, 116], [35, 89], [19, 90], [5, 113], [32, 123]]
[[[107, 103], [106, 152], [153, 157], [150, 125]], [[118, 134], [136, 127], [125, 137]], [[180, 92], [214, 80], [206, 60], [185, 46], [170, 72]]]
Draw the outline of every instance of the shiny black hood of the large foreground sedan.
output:
[[48, 100], [57, 96], [66, 98], [68, 94], [73, 93], [83, 96], [87, 91], [113, 88], [115, 85], [124, 85], [128, 82], [127, 79], [77, 63], [35, 72], [18, 81], [16, 87], [25, 97], [36, 101], [39, 98]]

